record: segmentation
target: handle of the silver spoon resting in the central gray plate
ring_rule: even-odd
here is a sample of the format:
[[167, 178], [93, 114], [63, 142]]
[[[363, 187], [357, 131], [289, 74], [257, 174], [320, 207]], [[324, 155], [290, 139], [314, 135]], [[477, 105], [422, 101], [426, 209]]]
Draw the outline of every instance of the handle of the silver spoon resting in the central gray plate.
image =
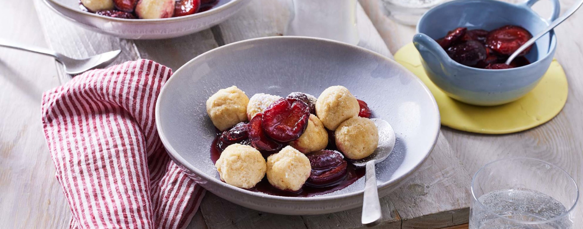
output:
[[377, 177], [374, 170], [374, 160], [372, 160], [366, 163], [362, 224], [374, 226], [381, 219], [381, 215], [381, 203], [378, 200], [377, 191]]

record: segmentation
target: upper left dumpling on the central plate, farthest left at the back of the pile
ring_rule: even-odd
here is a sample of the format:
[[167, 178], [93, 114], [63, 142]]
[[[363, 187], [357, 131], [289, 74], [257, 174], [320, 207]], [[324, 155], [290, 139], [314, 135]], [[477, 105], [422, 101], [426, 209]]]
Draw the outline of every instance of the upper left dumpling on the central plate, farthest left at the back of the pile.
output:
[[[174, 0], [173, 0], [174, 1]], [[206, 112], [220, 131], [247, 121], [249, 98], [236, 86], [221, 89], [206, 100]]]

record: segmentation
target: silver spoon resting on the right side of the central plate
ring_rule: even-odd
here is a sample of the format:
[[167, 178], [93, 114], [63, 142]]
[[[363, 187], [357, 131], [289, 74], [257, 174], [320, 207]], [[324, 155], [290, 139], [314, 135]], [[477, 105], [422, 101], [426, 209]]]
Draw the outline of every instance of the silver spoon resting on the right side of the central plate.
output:
[[375, 175], [374, 165], [385, 160], [395, 147], [395, 131], [391, 124], [379, 118], [372, 118], [374, 125], [378, 129], [378, 147], [371, 156], [353, 161], [356, 167], [366, 166], [366, 175], [364, 180], [364, 199], [363, 213], [361, 217], [362, 224], [374, 226], [381, 219], [381, 203], [378, 200], [377, 176]]

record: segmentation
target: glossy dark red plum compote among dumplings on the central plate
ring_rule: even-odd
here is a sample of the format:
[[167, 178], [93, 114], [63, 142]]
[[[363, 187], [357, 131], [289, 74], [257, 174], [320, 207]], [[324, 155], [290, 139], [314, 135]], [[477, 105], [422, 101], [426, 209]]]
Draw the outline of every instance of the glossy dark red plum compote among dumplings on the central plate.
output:
[[[254, 147], [264, 158], [278, 153], [290, 141], [300, 138], [308, 129], [308, 120], [311, 120], [310, 115], [315, 112], [316, 100], [317, 98], [309, 94], [294, 92], [285, 98], [273, 101], [269, 107], [256, 114], [248, 123], [240, 122], [226, 131], [217, 133], [210, 147], [210, 159], [216, 164], [223, 150], [233, 144]], [[368, 104], [362, 100], [357, 101], [360, 107], [358, 115], [370, 118], [372, 112]], [[346, 188], [362, 178], [365, 173], [364, 168], [355, 167], [352, 161], [347, 160], [336, 150], [335, 131], [329, 129], [325, 131], [328, 132], [328, 146], [323, 150], [318, 148], [319, 151], [305, 154], [310, 161], [311, 171], [299, 190], [280, 190], [271, 185], [267, 177], [247, 190], [278, 196], [317, 196]], [[314, 136], [306, 136], [314, 138]]]

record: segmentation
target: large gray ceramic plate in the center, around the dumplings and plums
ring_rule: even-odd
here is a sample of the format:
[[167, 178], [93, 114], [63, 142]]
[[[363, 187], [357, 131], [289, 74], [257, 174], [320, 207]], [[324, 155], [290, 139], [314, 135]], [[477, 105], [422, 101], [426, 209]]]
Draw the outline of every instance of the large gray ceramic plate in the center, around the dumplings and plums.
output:
[[286, 96], [303, 91], [316, 97], [334, 85], [347, 87], [368, 103], [375, 118], [396, 133], [391, 156], [377, 165], [379, 195], [391, 192], [429, 156], [440, 117], [433, 96], [395, 61], [354, 45], [308, 37], [268, 37], [215, 48], [182, 66], [168, 80], [156, 104], [160, 138], [175, 163], [208, 191], [251, 209], [278, 214], [324, 214], [362, 205], [364, 178], [345, 189], [308, 198], [251, 192], [220, 181], [210, 160], [215, 127], [206, 100], [236, 85], [248, 96]]

